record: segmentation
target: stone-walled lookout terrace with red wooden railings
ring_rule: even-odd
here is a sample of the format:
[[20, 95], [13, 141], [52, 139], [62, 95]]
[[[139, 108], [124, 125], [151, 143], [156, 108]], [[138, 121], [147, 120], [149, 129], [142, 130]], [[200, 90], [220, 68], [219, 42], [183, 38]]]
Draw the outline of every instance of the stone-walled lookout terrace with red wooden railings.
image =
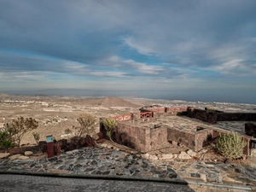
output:
[[[214, 143], [220, 134], [229, 131], [237, 132], [247, 142], [244, 154], [253, 155], [255, 151], [256, 113], [149, 106], [140, 108], [139, 113], [115, 116], [113, 119], [118, 122], [113, 131], [113, 141], [143, 153], [162, 148], [161, 143], [165, 141], [199, 151]], [[100, 131], [106, 137], [102, 123]]]

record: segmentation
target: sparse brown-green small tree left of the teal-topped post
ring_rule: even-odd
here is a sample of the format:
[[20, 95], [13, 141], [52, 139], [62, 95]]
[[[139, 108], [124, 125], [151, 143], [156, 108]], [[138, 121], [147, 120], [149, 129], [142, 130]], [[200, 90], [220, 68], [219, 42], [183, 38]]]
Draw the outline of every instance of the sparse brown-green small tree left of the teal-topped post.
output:
[[15, 143], [20, 147], [20, 141], [24, 134], [38, 128], [38, 121], [32, 118], [20, 117], [13, 119], [9, 124], [11, 136], [14, 138]]

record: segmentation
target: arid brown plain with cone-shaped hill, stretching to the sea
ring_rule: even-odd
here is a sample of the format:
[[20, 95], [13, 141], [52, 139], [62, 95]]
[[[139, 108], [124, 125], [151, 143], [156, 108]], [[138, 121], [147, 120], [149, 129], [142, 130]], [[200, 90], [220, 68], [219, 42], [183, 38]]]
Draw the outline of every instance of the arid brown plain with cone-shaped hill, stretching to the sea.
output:
[[[153, 100], [135, 97], [75, 97], [75, 96], [15, 96], [0, 94], [0, 125], [17, 119], [37, 119], [37, 130], [40, 140], [48, 135], [55, 139], [65, 138], [65, 130], [78, 125], [77, 118], [80, 113], [90, 113], [96, 118], [113, 117], [117, 115], [136, 113], [139, 108], [150, 105], [160, 106], [191, 106], [196, 108], [213, 107], [228, 112], [255, 112], [256, 105], [236, 104], [222, 102], [186, 102], [170, 100]], [[2, 124], [1, 124], [2, 123]], [[96, 133], [99, 131], [96, 127]], [[34, 132], [33, 131], [33, 132]], [[21, 144], [35, 143], [32, 132], [26, 133]]]

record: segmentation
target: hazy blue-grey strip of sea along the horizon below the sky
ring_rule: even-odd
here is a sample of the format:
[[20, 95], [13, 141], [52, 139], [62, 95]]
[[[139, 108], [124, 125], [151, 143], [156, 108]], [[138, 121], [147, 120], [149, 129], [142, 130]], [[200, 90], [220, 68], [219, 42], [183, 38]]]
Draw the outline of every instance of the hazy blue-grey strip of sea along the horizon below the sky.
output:
[[[256, 104], [256, 97], [241, 92], [217, 90], [84, 90], [84, 89], [45, 89], [45, 90], [0, 90], [0, 93], [19, 96], [76, 96], [76, 97], [127, 97], [184, 102], [229, 102], [237, 104]], [[235, 95], [235, 96], [234, 96]]]

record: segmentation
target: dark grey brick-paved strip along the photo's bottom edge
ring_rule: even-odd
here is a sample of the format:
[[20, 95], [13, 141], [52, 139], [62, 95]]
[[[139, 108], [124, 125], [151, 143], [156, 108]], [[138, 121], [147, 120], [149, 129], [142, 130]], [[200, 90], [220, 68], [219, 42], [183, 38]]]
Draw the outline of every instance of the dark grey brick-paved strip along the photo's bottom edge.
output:
[[193, 192], [188, 185], [143, 181], [104, 180], [67, 177], [38, 177], [27, 175], [1, 175], [0, 191], [179, 191]]

